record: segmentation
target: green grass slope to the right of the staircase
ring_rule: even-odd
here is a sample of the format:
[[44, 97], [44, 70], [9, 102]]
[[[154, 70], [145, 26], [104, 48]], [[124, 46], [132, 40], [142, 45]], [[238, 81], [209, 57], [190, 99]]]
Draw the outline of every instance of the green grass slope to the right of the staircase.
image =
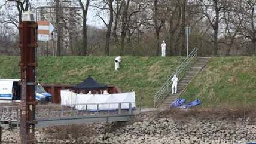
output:
[[182, 94], [203, 106], [251, 105], [256, 102], [256, 57], [213, 57]]

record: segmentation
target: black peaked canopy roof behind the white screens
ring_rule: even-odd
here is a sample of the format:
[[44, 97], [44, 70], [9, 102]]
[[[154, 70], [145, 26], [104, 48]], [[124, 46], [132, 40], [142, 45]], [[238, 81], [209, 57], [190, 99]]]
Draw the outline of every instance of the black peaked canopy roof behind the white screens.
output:
[[71, 90], [105, 90], [108, 87], [100, 84], [89, 76], [85, 81], [71, 88]]

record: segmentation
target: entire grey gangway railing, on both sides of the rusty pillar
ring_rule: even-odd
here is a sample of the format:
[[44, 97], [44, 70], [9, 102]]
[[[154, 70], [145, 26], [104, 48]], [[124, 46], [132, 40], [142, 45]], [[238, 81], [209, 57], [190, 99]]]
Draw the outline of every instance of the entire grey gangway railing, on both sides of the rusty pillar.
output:
[[[124, 115], [137, 115], [135, 103], [83, 103], [70, 105], [36, 105], [35, 119], [63, 120], [72, 118], [90, 117], [118, 117]], [[0, 121], [20, 121], [20, 106], [0, 106]]]

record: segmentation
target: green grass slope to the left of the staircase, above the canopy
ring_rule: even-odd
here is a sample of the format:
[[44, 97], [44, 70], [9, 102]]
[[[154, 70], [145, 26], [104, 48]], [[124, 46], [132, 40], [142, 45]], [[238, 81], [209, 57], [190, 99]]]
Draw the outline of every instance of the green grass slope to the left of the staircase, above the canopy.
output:
[[[114, 57], [38, 57], [37, 78], [42, 84], [76, 85], [87, 76], [123, 92], [135, 91], [136, 105], [152, 107], [154, 94], [185, 57], [121, 58], [120, 71]], [[20, 57], [0, 56], [0, 78], [20, 78]]]

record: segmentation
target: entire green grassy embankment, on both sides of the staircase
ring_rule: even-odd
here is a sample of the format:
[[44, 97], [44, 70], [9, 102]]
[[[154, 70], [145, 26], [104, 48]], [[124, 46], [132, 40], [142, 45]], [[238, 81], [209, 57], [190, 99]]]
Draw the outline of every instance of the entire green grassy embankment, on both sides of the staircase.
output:
[[[184, 57], [123, 57], [114, 71], [114, 57], [39, 57], [38, 81], [72, 84], [92, 76], [102, 84], [135, 91], [136, 104], [153, 107], [154, 94]], [[19, 57], [0, 57], [0, 78], [20, 78]], [[256, 57], [213, 57], [182, 97], [199, 97], [202, 106], [250, 105], [256, 102]]]

